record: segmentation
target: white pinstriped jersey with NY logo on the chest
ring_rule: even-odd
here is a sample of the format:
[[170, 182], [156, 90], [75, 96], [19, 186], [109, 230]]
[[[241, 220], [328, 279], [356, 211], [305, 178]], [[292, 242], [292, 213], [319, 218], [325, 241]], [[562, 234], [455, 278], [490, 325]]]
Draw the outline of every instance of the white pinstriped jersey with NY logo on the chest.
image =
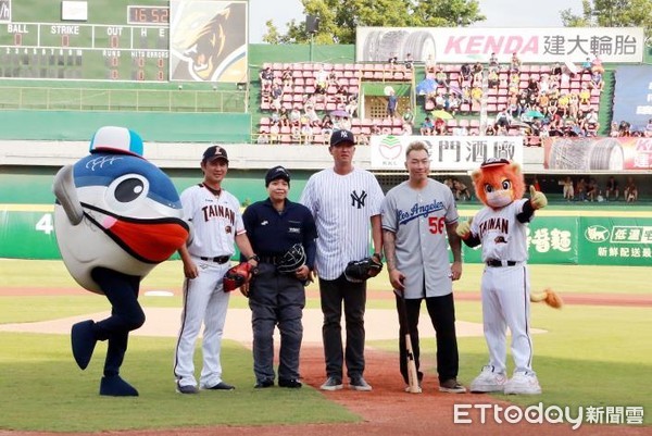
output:
[[369, 219], [380, 214], [383, 189], [376, 177], [354, 169], [339, 175], [333, 169], [313, 174], [300, 202], [317, 225], [316, 266], [321, 278], [339, 277], [347, 263], [369, 256]]

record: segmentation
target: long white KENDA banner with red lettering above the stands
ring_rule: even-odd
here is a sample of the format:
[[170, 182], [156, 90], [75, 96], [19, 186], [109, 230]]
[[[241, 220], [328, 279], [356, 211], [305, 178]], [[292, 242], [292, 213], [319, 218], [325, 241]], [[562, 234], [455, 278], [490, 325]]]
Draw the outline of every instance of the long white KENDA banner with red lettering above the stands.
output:
[[417, 62], [486, 63], [496, 53], [509, 64], [516, 53], [522, 62], [535, 63], [581, 63], [594, 55], [603, 62], [640, 63], [644, 40], [642, 27], [358, 27], [355, 60], [402, 61], [410, 53]]

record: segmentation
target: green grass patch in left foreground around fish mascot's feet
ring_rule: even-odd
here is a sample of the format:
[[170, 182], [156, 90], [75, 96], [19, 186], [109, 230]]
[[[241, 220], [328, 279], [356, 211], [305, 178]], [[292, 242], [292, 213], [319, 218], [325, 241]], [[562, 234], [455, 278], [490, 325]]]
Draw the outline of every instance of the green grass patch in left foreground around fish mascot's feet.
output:
[[233, 341], [224, 342], [222, 363], [238, 388], [187, 397], [174, 390], [175, 339], [130, 338], [123, 374], [139, 389], [137, 398], [97, 395], [102, 361], [96, 359], [80, 372], [70, 357], [67, 336], [0, 333], [0, 341], [3, 429], [99, 432], [360, 421], [308, 386], [254, 389], [251, 351]]

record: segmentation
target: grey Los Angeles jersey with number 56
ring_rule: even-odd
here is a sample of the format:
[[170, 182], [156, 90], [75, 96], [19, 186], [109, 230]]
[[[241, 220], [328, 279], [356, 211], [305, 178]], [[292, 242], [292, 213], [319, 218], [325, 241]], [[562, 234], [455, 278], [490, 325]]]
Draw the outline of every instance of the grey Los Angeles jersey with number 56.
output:
[[437, 180], [428, 179], [423, 189], [403, 182], [387, 192], [383, 229], [396, 234], [397, 267], [405, 275], [405, 298], [452, 292], [446, 225], [457, 217], [451, 189]]

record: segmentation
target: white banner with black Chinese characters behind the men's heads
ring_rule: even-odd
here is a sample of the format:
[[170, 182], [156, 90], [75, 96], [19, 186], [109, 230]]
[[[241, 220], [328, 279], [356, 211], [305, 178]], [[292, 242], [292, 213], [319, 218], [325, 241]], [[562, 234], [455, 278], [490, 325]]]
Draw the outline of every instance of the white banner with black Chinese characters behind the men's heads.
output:
[[430, 152], [430, 170], [476, 170], [489, 158], [505, 158], [523, 164], [522, 136], [393, 136], [369, 139], [373, 170], [405, 170], [410, 142], [424, 141]]

